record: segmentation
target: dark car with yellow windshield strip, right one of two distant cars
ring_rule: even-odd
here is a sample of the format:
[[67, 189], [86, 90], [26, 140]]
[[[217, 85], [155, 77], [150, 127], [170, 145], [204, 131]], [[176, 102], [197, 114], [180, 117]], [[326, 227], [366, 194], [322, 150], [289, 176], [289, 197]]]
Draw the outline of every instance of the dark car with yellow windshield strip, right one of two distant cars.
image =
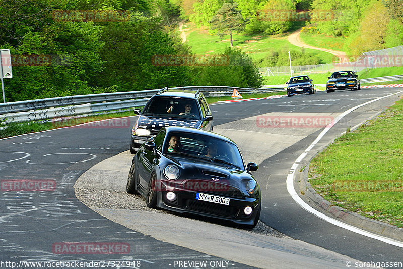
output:
[[327, 77], [326, 92], [335, 90], [361, 90], [360, 80], [354, 71], [339, 71]]

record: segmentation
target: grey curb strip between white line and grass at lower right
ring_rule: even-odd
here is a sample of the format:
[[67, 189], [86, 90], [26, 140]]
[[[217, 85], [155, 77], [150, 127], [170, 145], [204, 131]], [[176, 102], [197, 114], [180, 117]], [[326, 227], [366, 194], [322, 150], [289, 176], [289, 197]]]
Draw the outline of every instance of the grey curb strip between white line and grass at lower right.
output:
[[331, 214], [332, 217], [339, 221], [343, 221], [347, 224], [353, 225], [371, 233], [375, 233], [398, 241], [403, 241], [403, 228], [398, 228], [397, 226], [377, 220], [372, 220], [361, 216], [360, 214], [350, 212], [337, 205], [332, 205], [329, 201], [320, 196], [308, 182], [309, 164], [315, 156], [316, 154], [308, 160], [303, 172], [298, 171], [298, 173], [295, 174], [294, 178], [294, 180], [299, 180], [300, 193], [303, 193], [302, 196], [307, 202], [313, 203], [317, 207], [325, 210], [327, 213]]

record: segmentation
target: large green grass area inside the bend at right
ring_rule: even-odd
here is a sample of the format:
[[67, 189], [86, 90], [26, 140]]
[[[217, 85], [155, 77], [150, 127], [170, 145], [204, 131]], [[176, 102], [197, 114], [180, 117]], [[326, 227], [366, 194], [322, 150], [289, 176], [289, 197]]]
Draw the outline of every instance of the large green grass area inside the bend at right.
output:
[[334, 205], [403, 227], [402, 121], [399, 100], [368, 124], [336, 139], [312, 160], [311, 185]]

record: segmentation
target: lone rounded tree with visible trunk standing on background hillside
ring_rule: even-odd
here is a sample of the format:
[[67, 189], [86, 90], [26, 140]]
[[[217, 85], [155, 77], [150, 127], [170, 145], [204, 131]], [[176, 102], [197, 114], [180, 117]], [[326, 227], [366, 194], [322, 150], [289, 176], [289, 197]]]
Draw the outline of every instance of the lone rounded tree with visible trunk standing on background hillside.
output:
[[220, 38], [230, 35], [231, 47], [233, 47], [232, 34], [241, 32], [245, 28], [245, 21], [236, 3], [224, 3], [209, 23], [212, 30], [217, 30]]

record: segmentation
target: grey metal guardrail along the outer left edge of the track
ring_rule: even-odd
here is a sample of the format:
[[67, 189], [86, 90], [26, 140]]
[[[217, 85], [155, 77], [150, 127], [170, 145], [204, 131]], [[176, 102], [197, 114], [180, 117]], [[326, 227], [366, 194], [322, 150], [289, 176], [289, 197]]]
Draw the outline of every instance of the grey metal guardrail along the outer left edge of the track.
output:
[[[206, 97], [231, 96], [234, 87], [188, 86], [169, 89], [199, 90]], [[236, 88], [241, 94], [283, 91], [284, 88]], [[0, 104], [0, 122], [27, 122], [130, 109], [144, 106], [159, 89], [55, 97]]]

